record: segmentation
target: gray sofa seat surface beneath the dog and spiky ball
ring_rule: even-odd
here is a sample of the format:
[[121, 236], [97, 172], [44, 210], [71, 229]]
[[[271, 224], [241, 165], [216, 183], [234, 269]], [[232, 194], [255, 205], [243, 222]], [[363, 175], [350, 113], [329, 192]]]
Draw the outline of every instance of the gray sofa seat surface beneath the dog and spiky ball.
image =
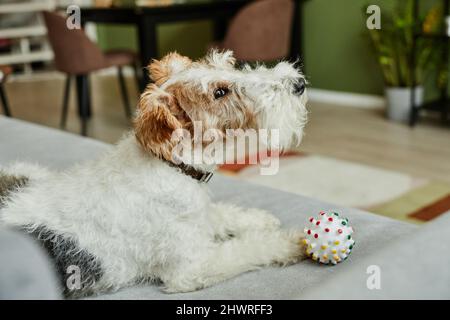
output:
[[[64, 168], [97, 156], [107, 145], [52, 129], [0, 117], [0, 165], [20, 159]], [[336, 209], [350, 219], [357, 243], [350, 258], [337, 266], [303, 261], [286, 268], [266, 268], [242, 274], [222, 284], [185, 294], [164, 294], [156, 285], [122, 289], [95, 299], [293, 299], [306, 296], [351, 268], [365, 266], [366, 258], [387, 248], [417, 227], [364, 211], [339, 208], [318, 200], [243, 183], [216, 175], [210, 182], [213, 197], [276, 214], [286, 228], [302, 228], [307, 217]], [[13, 263], [13, 262], [11, 262]], [[359, 270], [359, 269], [357, 269]], [[365, 270], [365, 269], [364, 269]], [[364, 280], [365, 281], [365, 280]], [[365, 282], [364, 282], [365, 283]], [[345, 284], [346, 286], [347, 284]]]

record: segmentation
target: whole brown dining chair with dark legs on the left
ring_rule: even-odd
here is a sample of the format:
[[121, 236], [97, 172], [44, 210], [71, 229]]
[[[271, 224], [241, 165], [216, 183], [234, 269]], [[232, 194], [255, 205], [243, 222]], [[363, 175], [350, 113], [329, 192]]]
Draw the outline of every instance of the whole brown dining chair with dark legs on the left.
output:
[[48, 38], [55, 54], [55, 67], [58, 71], [67, 74], [63, 107], [61, 115], [61, 128], [65, 128], [69, 104], [70, 85], [75, 78], [78, 114], [81, 118], [81, 134], [87, 134], [87, 122], [91, 116], [91, 97], [89, 90], [89, 74], [93, 71], [117, 67], [120, 91], [127, 117], [131, 117], [130, 102], [126, 90], [123, 67], [132, 66], [136, 80], [137, 57], [128, 50], [115, 50], [102, 52], [92, 42], [82, 29], [69, 29], [66, 19], [55, 13], [46, 11], [43, 13], [47, 26]]

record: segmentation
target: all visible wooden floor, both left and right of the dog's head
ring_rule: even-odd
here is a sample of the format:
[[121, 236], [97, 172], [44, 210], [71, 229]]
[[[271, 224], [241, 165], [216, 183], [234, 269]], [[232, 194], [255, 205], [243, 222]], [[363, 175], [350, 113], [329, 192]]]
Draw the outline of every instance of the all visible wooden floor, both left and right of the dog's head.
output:
[[[130, 128], [116, 77], [97, 75], [92, 81], [93, 118], [89, 135], [115, 142]], [[132, 105], [137, 91], [128, 79]], [[74, 88], [72, 88], [74, 90]], [[16, 118], [58, 127], [63, 78], [17, 80], [7, 84]], [[387, 121], [381, 111], [311, 103], [310, 121], [301, 150], [409, 173], [416, 177], [450, 181], [450, 129], [437, 120], [416, 128]], [[79, 121], [72, 91], [67, 130], [77, 133]]]

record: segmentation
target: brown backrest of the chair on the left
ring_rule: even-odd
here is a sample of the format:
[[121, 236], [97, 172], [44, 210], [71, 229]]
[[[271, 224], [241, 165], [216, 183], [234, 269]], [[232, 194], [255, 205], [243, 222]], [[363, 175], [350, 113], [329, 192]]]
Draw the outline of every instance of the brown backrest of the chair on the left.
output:
[[85, 74], [107, 66], [105, 56], [82, 29], [69, 29], [66, 19], [50, 11], [43, 12], [48, 38], [58, 71]]

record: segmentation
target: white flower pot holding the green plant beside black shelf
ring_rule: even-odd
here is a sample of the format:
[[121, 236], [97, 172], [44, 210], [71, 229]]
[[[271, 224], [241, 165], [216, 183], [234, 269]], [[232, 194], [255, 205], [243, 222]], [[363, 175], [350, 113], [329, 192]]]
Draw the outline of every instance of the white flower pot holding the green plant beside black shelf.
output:
[[[414, 90], [415, 105], [421, 105], [423, 103], [423, 87], [417, 86]], [[397, 122], [408, 122], [411, 112], [411, 89], [402, 87], [386, 88], [385, 96], [387, 101], [387, 118]]]

